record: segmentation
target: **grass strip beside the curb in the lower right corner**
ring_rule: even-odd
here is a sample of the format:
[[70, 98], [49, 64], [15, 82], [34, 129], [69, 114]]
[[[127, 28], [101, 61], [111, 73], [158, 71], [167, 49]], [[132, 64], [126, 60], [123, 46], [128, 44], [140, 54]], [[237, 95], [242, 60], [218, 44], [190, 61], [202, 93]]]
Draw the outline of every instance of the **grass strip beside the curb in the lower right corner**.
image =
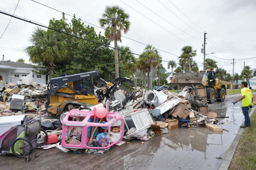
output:
[[245, 128], [238, 143], [229, 170], [256, 169], [256, 109], [251, 116], [251, 126]]

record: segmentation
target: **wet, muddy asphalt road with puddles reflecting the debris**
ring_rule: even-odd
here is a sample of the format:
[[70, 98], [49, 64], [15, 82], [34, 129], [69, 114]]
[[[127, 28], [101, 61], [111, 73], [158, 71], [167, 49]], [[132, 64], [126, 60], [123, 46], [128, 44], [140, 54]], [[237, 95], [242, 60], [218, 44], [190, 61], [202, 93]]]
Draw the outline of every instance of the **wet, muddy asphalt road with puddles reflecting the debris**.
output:
[[219, 125], [225, 129], [223, 132], [214, 132], [205, 127], [178, 128], [152, 137], [144, 141], [144, 144], [135, 139], [121, 146], [114, 146], [104, 154], [79, 154], [73, 151], [64, 153], [57, 148], [36, 149], [33, 152], [43, 151], [43, 154], [29, 162], [12, 155], [0, 155], [0, 170], [216, 170], [222, 161], [217, 158], [225, 156], [239, 126], [244, 122], [242, 102], [236, 105], [231, 103], [240, 96], [241, 94], [226, 96], [222, 109], [220, 102], [209, 104], [209, 111], [217, 113], [218, 116], [229, 116], [219, 119], [219, 122], [225, 123]]

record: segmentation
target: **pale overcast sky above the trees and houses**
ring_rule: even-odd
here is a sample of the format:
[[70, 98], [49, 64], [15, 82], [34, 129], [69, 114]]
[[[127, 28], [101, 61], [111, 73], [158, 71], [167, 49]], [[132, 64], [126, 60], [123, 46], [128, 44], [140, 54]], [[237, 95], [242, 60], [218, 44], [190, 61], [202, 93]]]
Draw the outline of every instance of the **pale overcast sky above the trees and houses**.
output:
[[[232, 74], [232, 60], [255, 57], [256, 53], [256, 1], [255, 0], [35, 0], [67, 14], [99, 26], [98, 19], [107, 5], [119, 5], [130, 15], [130, 30], [122, 37], [118, 45], [129, 46], [134, 53], [141, 54], [144, 44], [152, 44], [165, 61], [178, 62], [176, 55], [181, 55], [185, 45], [197, 50], [194, 60], [199, 69], [203, 69], [201, 47], [206, 34], [206, 53], [218, 61], [218, 67], [225, 68]], [[1, 0], [0, 10], [13, 14], [18, 0]], [[127, 5], [126, 5], [127, 4]], [[144, 6], [143, 6], [144, 5]], [[175, 7], [175, 6], [177, 7]], [[147, 8], [146, 8], [147, 7]], [[150, 10], [151, 11], [150, 11]], [[153, 13], [153, 12], [154, 13]], [[142, 15], [141, 15], [141, 14]], [[156, 15], [156, 14], [158, 15]], [[184, 14], [182, 14], [184, 13]], [[20, 0], [15, 15], [48, 26], [52, 18], [61, 19], [62, 14], [31, 0]], [[144, 15], [144, 16], [143, 16]], [[161, 18], [160, 18], [160, 17]], [[71, 17], [66, 16], [70, 21]], [[0, 36], [3, 34], [9, 16], [0, 14]], [[88, 24], [88, 23], [85, 23]], [[93, 26], [88, 24], [90, 26]], [[93, 26], [96, 33], [104, 35], [104, 30]], [[28, 41], [35, 25], [12, 18], [4, 35], [0, 39], [0, 58], [16, 61], [19, 58], [29, 63], [24, 48], [30, 46]], [[139, 43], [141, 42], [141, 43]], [[144, 44], [142, 44], [144, 43]], [[112, 42], [113, 46], [114, 43]], [[166, 52], [163, 52], [166, 51]], [[172, 54], [175, 55], [172, 55]], [[214, 56], [222, 59], [217, 59]], [[243, 64], [256, 68], [256, 58], [236, 60], [234, 73], [241, 73]], [[167, 69], [167, 62], [162, 62]], [[170, 71], [171, 69], [167, 69]]]

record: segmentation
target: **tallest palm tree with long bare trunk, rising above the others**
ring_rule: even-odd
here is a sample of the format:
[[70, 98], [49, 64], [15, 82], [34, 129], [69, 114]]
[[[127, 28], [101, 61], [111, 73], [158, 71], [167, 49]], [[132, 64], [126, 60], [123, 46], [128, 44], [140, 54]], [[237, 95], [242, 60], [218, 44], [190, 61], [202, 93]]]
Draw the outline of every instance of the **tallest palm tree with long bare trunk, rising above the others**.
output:
[[105, 37], [114, 41], [115, 44], [115, 74], [116, 78], [119, 77], [118, 71], [118, 51], [117, 42], [122, 42], [122, 31], [126, 34], [130, 28], [130, 22], [128, 21], [129, 14], [125, 13], [119, 6], [106, 6], [102, 18], [99, 19], [101, 27], [105, 27]]

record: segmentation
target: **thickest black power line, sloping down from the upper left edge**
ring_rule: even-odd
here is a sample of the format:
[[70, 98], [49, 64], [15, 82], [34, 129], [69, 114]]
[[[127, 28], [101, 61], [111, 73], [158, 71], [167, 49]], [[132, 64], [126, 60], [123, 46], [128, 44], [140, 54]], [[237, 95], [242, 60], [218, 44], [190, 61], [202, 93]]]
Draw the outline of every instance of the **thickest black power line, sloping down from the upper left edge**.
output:
[[[139, 55], [139, 56], [146, 57], [146, 58], [151, 58], [151, 59], [155, 59], [155, 60], [159, 60], [159, 61], [169, 62], [169, 61], [165, 61], [165, 60], [162, 60], [162, 59], [157, 59], [157, 58], [152, 58], [152, 57], [148, 57], [148, 56], [141, 55], [141, 54], [136, 54], [136, 53], [133, 53], [133, 52], [130, 52], [130, 51], [125, 51], [125, 50], [122, 50], [122, 49], [119, 49], [119, 48], [115, 48], [115, 47], [111, 47], [109, 45], [105, 45], [105, 44], [102, 44], [102, 43], [99, 43], [99, 42], [95, 42], [95, 41], [92, 41], [92, 40], [81, 38], [81, 37], [78, 37], [78, 36], [75, 36], [75, 35], [72, 35], [72, 34], [68, 34], [68, 33], [65, 33], [65, 32], [62, 32], [62, 31], [59, 31], [59, 30], [56, 30], [56, 29], [53, 29], [53, 28], [50, 28], [50, 27], [38, 24], [38, 23], [35, 23], [35, 22], [32, 22], [32, 21], [30, 21], [28, 19], [23, 19], [21, 17], [12, 16], [12, 15], [6, 13], [6, 12], [0, 11], [0, 13], [2, 13], [4, 15], [7, 15], [7, 16], [10, 16], [10, 17], [13, 17], [13, 18], [16, 18], [16, 19], [19, 19], [19, 20], [22, 20], [22, 21], [25, 21], [25, 22], [28, 22], [28, 23], [31, 23], [31, 24], [34, 24], [34, 25], [37, 25], [37, 26], [40, 26], [40, 27], [44, 27], [44, 28], [47, 28], [47, 29], [50, 29], [50, 30], [53, 30], [53, 31], [56, 31], [56, 32], [59, 32], [59, 33], [62, 33], [62, 34], [66, 34], [66, 35], [69, 35], [69, 36], [72, 36], [72, 37], [75, 37], [75, 38], [78, 38], [78, 39], [82, 39], [82, 40], [85, 40], [85, 41], [93, 42], [93, 43], [96, 43], [96, 44], [99, 44], [99, 45], [103, 45], [103, 46], [106, 46], [106, 47], [109, 47], [109, 48], [117, 49], [117, 50], [120, 50], [120, 51], [124, 51], [124, 52], [130, 53], [130, 54], [134, 54], [134, 55]], [[176, 63], [176, 64], [180, 64], [180, 63]], [[189, 64], [181, 64], [181, 65], [189, 65]]]

